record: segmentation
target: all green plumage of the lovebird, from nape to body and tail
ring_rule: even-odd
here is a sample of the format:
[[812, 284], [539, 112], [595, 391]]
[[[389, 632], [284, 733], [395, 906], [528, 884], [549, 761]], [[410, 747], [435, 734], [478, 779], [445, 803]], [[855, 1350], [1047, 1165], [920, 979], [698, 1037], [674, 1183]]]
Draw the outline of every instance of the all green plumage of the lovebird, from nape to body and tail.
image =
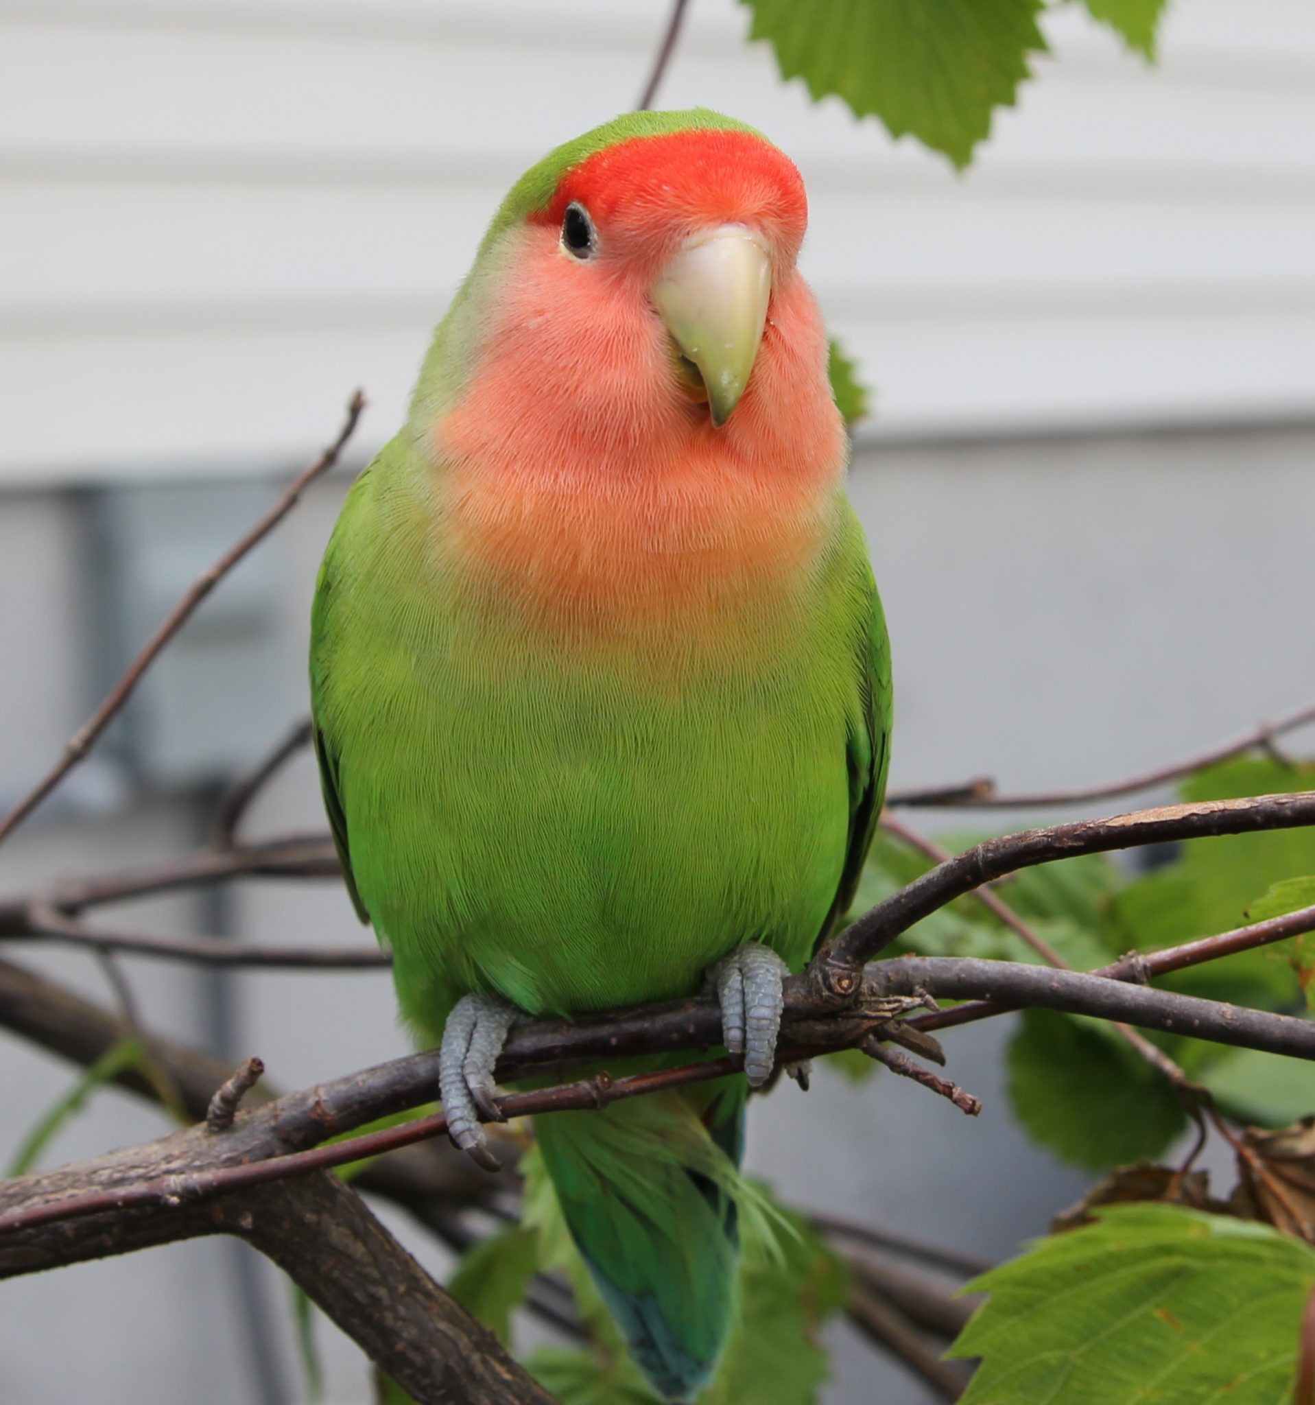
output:
[[[563, 651], [447, 549], [416, 426], [471, 372], [499, 228], [579, 156], [556, 153], [504, 204], [412, 426], [347, 499], [315, 600], [333, 833], [427, 1043], [471, 991], [570, 1016], [690, 995], [746, 941], [801, 968], [850, 903], [885, 783], [885, 625], [840, 489], [790, 608], [754, 620], [759, 646], [695, 649], [670, 674], [642, 639]], [[673, 1398], [707, 1380], [733, 1311], [743, 1100], [728, 1080], [538, 1127], [572, 1234]]]

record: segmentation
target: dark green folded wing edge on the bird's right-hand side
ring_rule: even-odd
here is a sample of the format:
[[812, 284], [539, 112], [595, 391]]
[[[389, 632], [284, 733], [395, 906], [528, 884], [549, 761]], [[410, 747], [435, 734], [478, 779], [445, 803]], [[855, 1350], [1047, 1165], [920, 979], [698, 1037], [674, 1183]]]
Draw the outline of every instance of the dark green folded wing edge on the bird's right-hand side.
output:
[[825, 941], [854, 902], [863, 865], [867, 861], [881, 802], [885, 797], [887, 771], [891, 766], [891, 639], [887, 635], [885, 614], [872, 569], [863, 558], [864, 589], [867, 594], [867, 628], [860, 636], [858, 684], [860, 710], [857, 725], [850, 729], [846, 759], [849, 763], [850, 828], [840, 887], [832, 903], [819, 941]]

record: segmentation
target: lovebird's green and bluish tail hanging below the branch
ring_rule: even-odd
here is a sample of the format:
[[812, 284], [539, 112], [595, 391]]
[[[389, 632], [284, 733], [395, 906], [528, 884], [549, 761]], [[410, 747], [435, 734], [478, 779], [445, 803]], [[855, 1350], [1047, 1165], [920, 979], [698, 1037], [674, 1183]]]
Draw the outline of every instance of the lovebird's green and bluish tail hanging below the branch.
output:
[[739, 1175], [745, 1083], [542, 1117], [535, 1135], [566, 1225], [631, 1356], [688, 1401], [735, 1316], [740, 1232], [770, 1211]]

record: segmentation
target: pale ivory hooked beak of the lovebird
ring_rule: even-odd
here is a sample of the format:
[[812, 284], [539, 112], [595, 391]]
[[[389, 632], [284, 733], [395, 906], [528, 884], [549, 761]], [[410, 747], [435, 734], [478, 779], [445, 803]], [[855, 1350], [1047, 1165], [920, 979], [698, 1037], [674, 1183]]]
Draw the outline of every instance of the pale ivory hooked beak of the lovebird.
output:
[[770, 294], [771, 259], [743, 225], [694, 235], [653, 284], [653, 306], [684, 360], [697, 367], [697, 377], [687, 367], [691, 388], [702, 392], [698, 399], [707, 396], [718, 427], [749, 384]]

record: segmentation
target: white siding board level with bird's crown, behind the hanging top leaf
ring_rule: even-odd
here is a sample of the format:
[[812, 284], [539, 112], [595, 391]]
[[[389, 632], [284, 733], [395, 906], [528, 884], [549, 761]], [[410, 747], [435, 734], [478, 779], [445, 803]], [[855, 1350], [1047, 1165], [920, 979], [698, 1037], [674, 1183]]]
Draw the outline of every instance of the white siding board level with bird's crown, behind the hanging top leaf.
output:
[[[6, 150], [268, 148], [318, 153], [520, 153], [547, 146], [628, 107], [643, 72], [586, 49], [552, 63], [532, 48], [489, 42], [409, 45], [294, 35], [121, 31], [10, 25], [0, 42], [0, 155]], [[52, 81], [52, 74], [56, 79]], [[509, 103], [506, 94], [517, 94]], [[733, 96], [733, 97], [732, 97]], [[813, 108], [783, 87], [761, 46], [732, 58], [684, 52], [665, 98], [714, 103], [776, 136], [801, 159], [948, 166], [839, 101]], [[531, 132], [525, 114], [541, 112]], [[472, 119], [478, 114], [478, 121]], [[1083, 76], [1054, 66], [1023, 90], [1020, 110], [997, 115], [982, 169], [1035, 162], [1071, 167], [1186, 171], [1262, 169], [1315, 173], [1315, 86], [1236, 89], [1175, 81], [1127, 60]]]

